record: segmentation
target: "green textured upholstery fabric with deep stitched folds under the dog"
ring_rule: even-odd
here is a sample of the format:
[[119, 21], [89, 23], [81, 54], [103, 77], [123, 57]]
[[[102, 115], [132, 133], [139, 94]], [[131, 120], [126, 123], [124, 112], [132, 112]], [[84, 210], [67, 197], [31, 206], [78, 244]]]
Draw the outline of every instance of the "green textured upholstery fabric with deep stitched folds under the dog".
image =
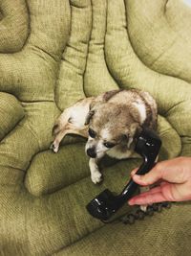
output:
[[[90, 178], [84, 139], [49, 150], [60, 112], [115, 88], [159, 105], [159, 159], [191, 156], [191, 8], [180, 0], [0, 1], [0, 255], [191, 254], [191, 205], [135, 225], [103, 224], [87, 202], [119, 192], [139, 159]], [[131, 211], [131, 208], [128, 208]]]

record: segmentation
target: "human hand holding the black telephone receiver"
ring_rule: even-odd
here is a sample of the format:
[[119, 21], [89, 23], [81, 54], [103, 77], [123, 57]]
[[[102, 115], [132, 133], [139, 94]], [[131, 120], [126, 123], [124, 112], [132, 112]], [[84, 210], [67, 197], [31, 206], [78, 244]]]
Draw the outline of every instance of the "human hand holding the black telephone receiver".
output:
[[140, 186], [157, 185], [150, 191], [131, 198], [128, 203], [151, 204], [159, 201], [183, 201], [191, 199], [191, 157], [177, 157], [159, 162], [148, 174], [131, 175]]

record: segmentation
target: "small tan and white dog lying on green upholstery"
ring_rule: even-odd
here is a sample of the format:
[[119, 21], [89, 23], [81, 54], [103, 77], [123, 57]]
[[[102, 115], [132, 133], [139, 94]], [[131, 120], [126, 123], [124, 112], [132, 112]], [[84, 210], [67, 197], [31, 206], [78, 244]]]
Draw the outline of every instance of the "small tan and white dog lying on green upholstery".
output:
[[51, 149], [57, 152], [66, 134], [88, 138], [91, 178], [99, 183], [99, 160], [108, 154], [117, 159], [134, 157], [135, 139], [142, 128], [157, 128], [157, 104], [148, 93], [136, 89], [113, 90], [78, 101], [66, 108], [53, 127]]

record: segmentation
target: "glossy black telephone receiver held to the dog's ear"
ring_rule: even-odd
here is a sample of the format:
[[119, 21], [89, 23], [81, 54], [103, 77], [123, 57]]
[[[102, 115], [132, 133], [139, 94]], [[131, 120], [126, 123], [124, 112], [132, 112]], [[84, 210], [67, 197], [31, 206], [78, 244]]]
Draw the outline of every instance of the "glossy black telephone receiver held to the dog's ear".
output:
[[[143, 157], [143, 162], [138, 168], [138, 175], [144, 175], [154, 167], [160, 147], [159, 136], [153, 130], [143, 128], [138, 136], [135, 148], [135, 151]], [[115, 196], [110, 190], [106, 189], [91, 200], [86, 208], [96, 219], [108, 221], [134, 195], [137, 189], [138, 184], [131, 178], [119, 195]]]

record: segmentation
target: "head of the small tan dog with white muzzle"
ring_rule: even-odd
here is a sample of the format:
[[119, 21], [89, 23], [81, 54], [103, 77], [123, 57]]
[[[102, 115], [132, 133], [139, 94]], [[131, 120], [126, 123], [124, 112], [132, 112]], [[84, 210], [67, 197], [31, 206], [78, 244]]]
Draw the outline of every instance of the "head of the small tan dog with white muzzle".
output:
[[86, 125], [89, 125], [86, 152], [92, 158], [101, 158], [115, 147], [127, 151], [141, 129], [135, 108], [107, 102], [91, 105]]

